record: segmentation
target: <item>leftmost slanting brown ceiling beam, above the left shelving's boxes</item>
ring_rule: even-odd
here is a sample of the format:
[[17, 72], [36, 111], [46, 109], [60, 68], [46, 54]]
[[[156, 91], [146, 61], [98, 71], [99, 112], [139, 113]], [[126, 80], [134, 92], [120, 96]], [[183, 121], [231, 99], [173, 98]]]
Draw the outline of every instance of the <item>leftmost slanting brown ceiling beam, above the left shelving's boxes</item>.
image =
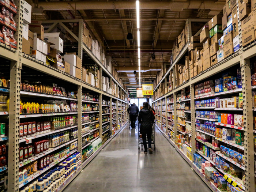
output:
[[[79, 10], [80, 14], [82, 15], [83, 19], [91, 19], [93, 18], [93, 16], [91, 16], [90, 11], [89, 10]], [[99, 43], [101, 45], [104, 45], [104, 39], [101, 35], [101, 32], [99, 31], [97, 25], [95, 22], [91, 22], [91, 21], [87, 21], [86, 22], [87, 25], [89, 26], [90, 30], [93, 32], [94, 36], [96, 37], [96, 39], [99, 41]]]

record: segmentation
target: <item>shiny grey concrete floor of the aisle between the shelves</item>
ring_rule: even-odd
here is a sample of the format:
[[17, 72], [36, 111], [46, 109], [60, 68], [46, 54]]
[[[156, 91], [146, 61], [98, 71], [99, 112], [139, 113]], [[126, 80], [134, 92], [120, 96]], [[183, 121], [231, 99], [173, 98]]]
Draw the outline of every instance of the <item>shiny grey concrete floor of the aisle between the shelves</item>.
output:
[[155, 143], [153, 154], [138, 153], [127, 125], [64, 192], [211, 192], [157, 128]]

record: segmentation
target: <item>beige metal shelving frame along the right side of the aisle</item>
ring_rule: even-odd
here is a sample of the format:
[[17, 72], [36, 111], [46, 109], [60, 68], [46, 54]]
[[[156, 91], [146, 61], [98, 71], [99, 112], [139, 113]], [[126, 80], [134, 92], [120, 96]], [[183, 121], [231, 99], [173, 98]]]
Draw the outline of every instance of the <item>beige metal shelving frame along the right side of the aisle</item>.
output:
[[[238, 0], [237, 0], [237, 10], [239, 10], [238, 8]], [[240, 50], [238, 50], [238, 52], [235, 52], [234, 54], [230, 55], [229, 57], [225, 58], [224, 60], [222, 60], [221, 62], [215, 64], [214, 66], [211, 66], [210, 68], [208, 68], [206, 71], [203, 71], [202, 73], [196, 75], [195, 77], [191, 78], [188, 80], [188, 82], [185, 82], [183, 84], [181, 84], [180, 86], [176, 86], [175, 85], [175, 81], [173, 82], [173, 87], [174, 89], [169, 91], [168, 93], [165, 93], [165, 95], [161, 95], [161, 97], [159, 98], [155, 98], [155, 100], [152, 102], [152, 106], [153, 107], [158, 107], [158, 103], [159, 100], [161, 101], [163, 98], [168, 98], [170, 97], [170, 95], [174, 96], [174, 127], [167, 127], [167, 130], [170, 129], [175, 133], [175, 137], [176, 138], [176, 133], [177, 133], [177, 103], [176, 103], [176, 94], [178, 91], [180, 91], [181, 89], [184, 89], [186, 87], [190, 88], [190, 113], [191, 113], [191, 121], [185, 121], [186, 123], [191, 123], [191, 138], [192, 138], [192, 143], [191, 145], [189, 145], [189, 147], [191, 147], [191, 155], [193, 157], [194, 153], [198, 153], [200, 154], [200, 151], [196, 151], [196, 141], [205, 144], [206, 146], [210, 147], [213, 150], [219, 150], [218, 147], [214, 147], [212, 146], [211, 143], [208, 142], [203, 142], [200, 139], [196, 138], [196, 131], [199, 131], [196, 129], [196, 124], [195, 121], [196, 119], [201, 119], [201, 120], [207, 120], [207, 121], [218, 121], [217, 119], [208, 119], [208, 118], [201, 118], [201, 117], [196, 117], [195, 111], [196, 109], [202, 110], [202, 109], [208, 109], [211, 111], [222, 111], [222, 110], [226, 110], [226, 113], [229, 113], [229, 111], [240, 111], [240, 113], [243, 114], [245, 118], [244, 120], [244, 127], [240, 127], [240, 126], [234, 126], [234, 125], [229, 125], [229, 124], [223, 124], [223, 123], [215, 123], [219, 126], [223, 126], [223, 127], [227, 127], [227, 128], [232, 128], [232, 129], [239, 129], [241, 131], [244, 131], [244, 146], [239, 146], [237, 144], [235, 144], [233, 141], [230, 140], [224, 140], [224, 139], [220, 139], [220, 138], [215, 138], [217, 140], [220, 140], [221, 142], [230, 145], [230, 146], [235, 146], [237, 148], [239, 148], [240, 150], [244, 150], [244, 166], [240, 165], [239, 163], [233, 161], [230, 158], [225, 157], [225, 155], [219, 153], [219, 151], [216, 151], [216, 154], [218, 154], [219, 156], [225, 158], [227, 161], [233, 163], [234, 165], [240, 167], [241, 169], [245, 170], [245, 181], [244, 184], [242, 185], [241, 180], [238, 178], [234, 178], [228, 174], [226, 174], [225, 172], [223, 172], [223, 170], [220, 170], [219, 168], [218, 171], [220, 171], [222, 174], [226, 174], [228, 178], [230, 178], [232, 181], [237, 183], [237, 187], [239, 186], [240, 188], [244, 189], [245, 192], [252, 192], [255, 190], [255, 185], [254, 185], [254, 180], [255, 180], [255, 173], [254, 173], [254, 156], [255, 156], [255, 152], [254, 152], [254, 148], [253, 148], [253, 132], [256, 132], [255, 130], [253, 130], [253, 108], [252, 108], [252, 89], [255, 89], [255, 86], [251, 86], [251, 71], [250, 71], [250, 59], [254, 56], [256, 56], [256, 41], [252, 42], [251, 44], [247, 45], [245, 48], [242, 47], [242, 38], [241, 38], [241, 22], [239, 21], [239, 11], [237, 11], [237, 15], [238, 15], [238, 29], [239, 29], [239, 40], [240, 40]], [[191, 26], [191, 19], [188, 19], [187, 22], [189, 23], [189, 27]], [[199, 35], [200, 31], [198, 31], [198, 33], [196, 35]], [[190, 41], [190, 37], [191, 37], [191, 31], [189, 33], [189, 41]], [[180, 61], [180, 59], [182, 58], [182, 56], [185, 55], [185, 53], [188, 52], [188, 44], [185, 45], [185, 47], [182, 49], [182, 51], [180, 52], [180, 54], [178, 55], [178, 57], [176, 58], [176, 60], [173, 62], [173, 64], [171, 65], [171, 67], [169, 69], [167, 69], [167, 72], [165, 75], [163, 75], [163, 78], [160, 80], [160, 82], [157, 84], [157, 87], [155, 87], [154, 89], [154, 94], [158, 91], [159, 89], [159, 85], [160, 83], [166, 83], [166, 77], [170, 74], [170, 71], [174, 71], [175, 70], [175, 64], [178, 63]], [[206, 96], [201, 96], [201, 97], [196, 97], [195, 96], [195, 84], [198, 82], [201, 82], [202, 80], [206, 79], [206, 78], [210, 78], [212, 75], [214, 74], [218, 74], [220, 72], [222, 72], [225, 69], [231, 68], [237, 64], [240, 63], [240, 67], [241, 67], [241, 75], [242, 75], [242, 89], [236, 89], [236, 90], [231, 90], [231, 91], [226, 91], [226, 92], [222, 92], [222, 93], [217, 93], [217, 94], [211, 94], [211, 95], [206, 95]], [[173, 73], [173, 76], [175, 79], [175, 73]], [[200, 107], [200, 108], [195, 108], [195, 100], [199, 100], [199, 99], [211, 99], [212, 97], [218, 97], [218, 96], [226, 96], [227, 94], [238, 94], [241, 93], [243, 94], [243, 108], [214, 108], [214, 107]], [[166, 109], [167, 109], [167, 105], [170, 105], [170, 102], [167, 103], [166, 102]], [[166, 110], [167, 111], [167, 110]], [[173, 112], [168, 111], [168, 113], [173, 114]], [[161, 115], [162, 116], [162, 115]], [[167, 117], [167, 115], [166, 115]], [[162, 123], [162, 118], [161, 119], [161, 123]], [[172, 122], [172, 120], [168, 119], [169, 122]], [[173, 143], [173, 141], [170, 139], [169, 135], [166, 135], [166, 133], [164, 133], [159, 127], [157, 127], [159, 129], [159, 131], [161, 131], [161, 133], [166, 137], [166, 139], [174, 146], [175, 143]], [[212, 137], [215, 137], [215, 135], [203, 132], [203, 131], [199, 131], [202, 133], [205, 133], [207, 135], [211, 135]], [[186, 143], [187, 144], [187, 143]], [[188, 144], [187, 144], [188, 145]], [[175, 145], [176, 150], [181, 154], [181, 156], [189, 163], [189, 165], [192, 166], [192, 169], [195, 170], [195, 172], [202, 178], [202, 180], [208, 185], [208, 187], [214, 191], [217, 192], [219, 191], [219, 189], [217, 187], [214, 186], [214, 184], [212, 182], [209, 182], [206, 177], [204, 176], [204, 174], [202, 174], [202, 171], [195, 166], [195, 164], [193, 163], [193, 161], [191, 162], [190, 159], [188, 159], [188, 157], [181, 151], [178, 149], [178, 147]], [[202, 156], [202, 154], [200, 154]], [[203, 157], [203, 156], [202, 156]], [[203, 157], [205, 159], [207, 159], [206, 157]], [[193, 160], [193, 159], [192, 159]], [[214, 164], [214, 162], [212, 162]]]

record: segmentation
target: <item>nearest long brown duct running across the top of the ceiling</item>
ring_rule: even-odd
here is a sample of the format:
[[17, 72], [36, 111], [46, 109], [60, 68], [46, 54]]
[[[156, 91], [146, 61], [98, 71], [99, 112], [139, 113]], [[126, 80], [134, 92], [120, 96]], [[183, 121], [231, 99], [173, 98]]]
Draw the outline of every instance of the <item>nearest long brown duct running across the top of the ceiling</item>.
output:
[[[181, 12], [183, 9], [210, 9], [221, 11], [226, 1], [190, 0], [190, 1], [140, 1], [140, 9], [171, 10]], [[57, 1], [39, 2], [38, 7], [44, 11], [53, 10], [135, 10], [135, 1]]]

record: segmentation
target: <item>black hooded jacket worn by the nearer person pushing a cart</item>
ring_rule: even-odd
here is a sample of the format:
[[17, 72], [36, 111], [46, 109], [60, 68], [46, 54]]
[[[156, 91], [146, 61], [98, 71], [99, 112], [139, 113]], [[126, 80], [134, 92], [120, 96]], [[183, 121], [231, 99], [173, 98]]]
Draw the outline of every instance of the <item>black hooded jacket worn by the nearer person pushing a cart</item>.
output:
[[154, 123], [155, 116], [148, 108], [143, 108], [139, 113], [140, 133], [152, 133], [152, 123]]

